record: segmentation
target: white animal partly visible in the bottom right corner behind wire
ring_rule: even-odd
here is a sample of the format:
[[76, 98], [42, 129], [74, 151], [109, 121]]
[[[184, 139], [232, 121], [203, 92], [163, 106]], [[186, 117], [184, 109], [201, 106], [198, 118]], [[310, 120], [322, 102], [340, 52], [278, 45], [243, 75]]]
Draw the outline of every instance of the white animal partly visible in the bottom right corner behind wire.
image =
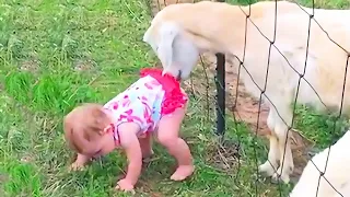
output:
[[[335, 144], [330, 146], [330, 149], [327, 148], [314, 155], [313, 162], [308, 161], [290, 197], [350, 196], [349, 149], [350, 131], [348, 130]], [[320, 172], [324, 173], [324, 176], [319, 178]]]

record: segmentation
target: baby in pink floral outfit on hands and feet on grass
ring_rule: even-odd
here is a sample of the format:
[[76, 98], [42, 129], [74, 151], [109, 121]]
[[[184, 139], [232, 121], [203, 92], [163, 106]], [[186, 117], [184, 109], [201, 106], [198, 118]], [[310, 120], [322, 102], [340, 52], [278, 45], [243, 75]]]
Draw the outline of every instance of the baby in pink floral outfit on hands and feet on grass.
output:
[[132, 190], [142, 159], [153, 153], [150, 137], [154, 135], [177, 161], [171, 179], [185, 179], [194, 172], [190, 150], [178, 135], [187, 102], [187, 94], [173, 76], [148, 68], [141, 70], [138, 81], [105, 105], [78, 106], [63, 120], [65, 138], [78, 152], [71, 169], [81, 169], [92, 158], [120, 147], [127, 154], [128, 170], [116, 187]]

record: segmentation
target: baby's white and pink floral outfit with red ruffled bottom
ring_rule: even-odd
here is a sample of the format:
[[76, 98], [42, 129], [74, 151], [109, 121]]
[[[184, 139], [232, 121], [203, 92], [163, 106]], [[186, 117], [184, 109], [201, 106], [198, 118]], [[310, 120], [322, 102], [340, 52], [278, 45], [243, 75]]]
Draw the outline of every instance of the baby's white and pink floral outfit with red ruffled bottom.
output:
[[173, 113], [187, 103], [187, 94], [179, 82], [170, 74], [162, 76], [160, 69], [141, 70], [141, 78], [104, 105], [113, 115], [116, 142], [120, 143], [118, 126], [136, 123], [140, 126], [139, 136], [156, 129], [164, 115]]

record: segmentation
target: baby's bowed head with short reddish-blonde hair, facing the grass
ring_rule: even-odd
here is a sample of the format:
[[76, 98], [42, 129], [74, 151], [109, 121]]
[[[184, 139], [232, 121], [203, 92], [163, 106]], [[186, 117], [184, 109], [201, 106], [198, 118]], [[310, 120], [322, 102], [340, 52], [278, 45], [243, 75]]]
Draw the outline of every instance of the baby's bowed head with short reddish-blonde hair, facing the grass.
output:
[[80, 154], [98, 157], [114, 149], [110, 118], [100, 104], [83, 104], [63, 119], [65, 138]]

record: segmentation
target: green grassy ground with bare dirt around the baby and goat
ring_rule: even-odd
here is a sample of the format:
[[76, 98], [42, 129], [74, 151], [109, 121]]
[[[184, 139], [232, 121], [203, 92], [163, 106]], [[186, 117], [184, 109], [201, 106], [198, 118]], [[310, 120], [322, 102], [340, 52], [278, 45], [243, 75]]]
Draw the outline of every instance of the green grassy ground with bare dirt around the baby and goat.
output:
[[[350, 8], [347, 0], [315, 3]], [[83, 172], [67, 171], [72, 153], [63, 141], [61, 120], [78, 103], [108, 101], [138, 78], [140, 68], [158, 63], [141, 39], [151, 20], [148, 4], [122, 0], [0, 3], [0, 194], [128, 196], [113, 189], [126, 166], [124, 155], [113, 153]], [[217, 142], [212, 134], [214, 69], [209, 61], [212, 58], [205, 57], [205, 72], [198, 67], [185, 83], [190, 107], [182, 134], [195, 157], [194, 176], [171, 182], [174, 160], [155, 144], [156, 154], [144, 169], [137, 196], [253, 196], [256, 190], [258, 196], [285, 196], [293, 184], [278, 186], [256, 175], [256, 163], [266, 159], [268, 147], [264, 138], [249, 132], [257, 106], [242, 85], [237, 112], [245, 121], [235, 124], [228, 111], [226, 140]], [[208, 80], [199, 80], [205, 73]], [[235, 73], [230, 69], [226, 79], [226, 101], [231, 101]], [[334, 140], [327, 116], [299, 107], [298, 117], [303, 141], [322, 149]]]

